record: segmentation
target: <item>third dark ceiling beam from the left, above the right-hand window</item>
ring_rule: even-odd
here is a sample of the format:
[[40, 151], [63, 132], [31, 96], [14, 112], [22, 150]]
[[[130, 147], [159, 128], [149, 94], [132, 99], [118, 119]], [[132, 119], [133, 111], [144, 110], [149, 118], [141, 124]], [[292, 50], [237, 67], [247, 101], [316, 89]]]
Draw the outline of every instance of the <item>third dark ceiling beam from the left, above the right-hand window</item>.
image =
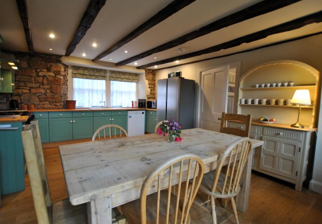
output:
[[[185, 6], [193, 3], [196, 0], [174, 0], [170, 4], [168, 4], [166, 7], [164, 7], [161, 11], [156, 13], [154, 16], [152, 16], [150, 19], [148, 19], [146, 22], [141, 24], [139, 27], [137, 27], [134, 31], [130, 32], [127, 36], [119, 40], [117, 43], [113, 44], [109, 49], [105, 50], [104, 52], [100, 53], [96, 58], [93, 59], [93, 61], [97, 61], [101, 58], [104, 58], [105, 56], [109, 55], [110, 53], [114, 52], [115, 50], [119, 49], [126, 43], [130, 42], [140, 34], [144, 33], [148, 29], [154, 27], [159, 22], [162, 22], [166, 18], [170, 17], [174, 13], [180, 11]], [[123, 64], [125, 65], [125, 64]]]

